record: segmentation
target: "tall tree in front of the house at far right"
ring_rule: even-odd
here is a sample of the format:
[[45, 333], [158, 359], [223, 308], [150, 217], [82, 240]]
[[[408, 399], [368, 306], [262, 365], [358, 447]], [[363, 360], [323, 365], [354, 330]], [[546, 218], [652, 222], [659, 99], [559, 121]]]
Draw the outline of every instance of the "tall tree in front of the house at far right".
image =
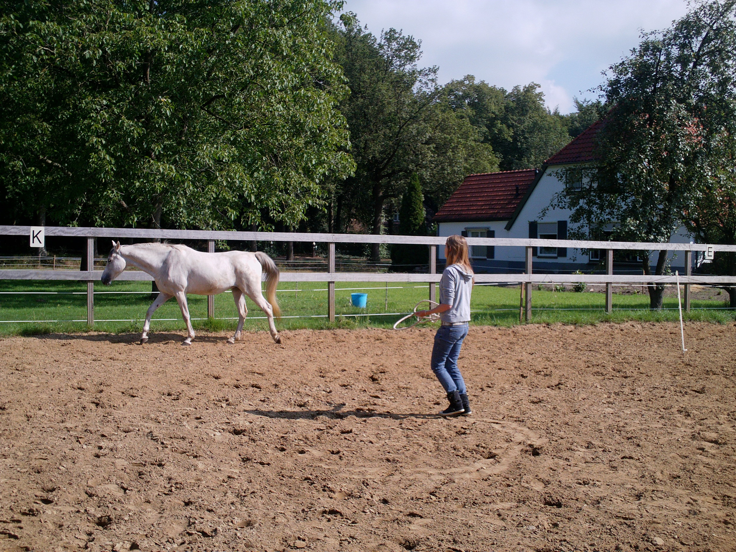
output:
[[[562, 171], [568, 186], [553, 205], [573, 211], [570, 236], [668, 242], [707, 202], [709, 191], [732, 174], [736, 132], [736, 0], [700, 1], [662, 32], [610, 68], [601, 85], [613, 106], [598, 134], [600, 161]], [[727, 168], [727, 169], [724, 169]], [[659, 251], [654, 269], [668, 269]], [[662, 308], [664, 286], [648, 286], [650, 306]]]

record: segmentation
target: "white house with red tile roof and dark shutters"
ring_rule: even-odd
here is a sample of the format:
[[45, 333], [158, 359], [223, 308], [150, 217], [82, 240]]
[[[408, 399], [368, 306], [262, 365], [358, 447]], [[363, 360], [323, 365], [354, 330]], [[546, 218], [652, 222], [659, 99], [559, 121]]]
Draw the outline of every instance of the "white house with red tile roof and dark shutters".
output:
[[[555, 194], [565, 184], [556, 176], [558, 169], [595, 160], [593, 139], [601, 123], [592, 124], [585, 132], [545, 161], [541, 169], [470, 174], [437, 211], [438, 236], [461, 234], [474, 238], [544, 238], [566, 239], [569, 210], [549, 209]], [[689, 243], [691, 236], [682, 228], [670, 238], [673, 243]], [[525, 268], [523, 247], [471, 247], [475, 272], [518, 273]], [[534, 272], [552, 274], [595, 269], [601, 252], [581, 252], [565, 247], [535, 247]], [[659, 253], [653, 252], [652, 266]], [[684, 254], [672, 256], [673, 269], [684, 269]], [[445, 258], [439, 247], [440, 260]], [[617, 255], [615, 272], [641, 274], [636, 258]]]

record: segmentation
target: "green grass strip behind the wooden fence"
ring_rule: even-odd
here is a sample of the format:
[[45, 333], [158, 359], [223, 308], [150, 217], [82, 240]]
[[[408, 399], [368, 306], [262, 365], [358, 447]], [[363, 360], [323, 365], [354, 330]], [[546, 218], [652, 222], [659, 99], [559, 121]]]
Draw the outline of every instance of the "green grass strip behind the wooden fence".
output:
[[[280, 283], [277, 297], [283, 318], [277, 323], [278, 328], [391, 328], [400, 317], [396, 313], [408, 313], [417, 301], [428, 297], [426, 284], [389, 283], [386, 290], [386, 285], [381, 283], [336, 283], [338, 319], [330, 324], [325, 316], [326, 288], [325, 283], [299, 283], [298, 286], [297, 283]], [[146, 293], [150, 289], [148, 282], [115, 282], [112, 286], [96, 284], [96, 322], [93, 329], [116, 333], [140, 331], [142, 319], [151, 303], [149, 293]], [[28, 291], [43, 294], [18, 293]], [[141, 291], [144, 293], [140, 293]], [[368, 294], [367, 308], [350, 305], [350, 293], [354, 291]], [[0, 292], [2, 335], [88, 330], [85, 283], [3, 280], [0, 282]], [[614, 294], [614, 311], [611, 315], [604, 312], [604, 301], [602, 293], [539, 291], [535, 288], [532, 293], [533, 322], [592, 324], [602, 321], [660, 322], [678, 319], [676, 297], [665, 297], [665, 310], [652, 312], [648, 310], [646, 294]], [[230, 293], [215, 297], [214, 320], [206, 319], [206, 297], [190, 295], [188, 302], [192, 318], [197, 319], [193, 321], [195, 328], [235, 328], [237, 312]], [[247, 300], [247, 305], [249, 317], [246, 329], [265, 330], [266, 319], [263, 312], [250, 299]], [[684, 313], [684, 316], [691, 320], [732, 322], [736, 319], [736, 313], [725, 309], [725, 306], [726, 303], [719, 300], [693, 300], [693, 310], [689, 314]], [[473, 324], [518, 324], [519, 287], [475, 286], [471, 308]], [[152, 330], [184, 330], [184, 322], [175, 300], [169, 300], [156, 311]]]

